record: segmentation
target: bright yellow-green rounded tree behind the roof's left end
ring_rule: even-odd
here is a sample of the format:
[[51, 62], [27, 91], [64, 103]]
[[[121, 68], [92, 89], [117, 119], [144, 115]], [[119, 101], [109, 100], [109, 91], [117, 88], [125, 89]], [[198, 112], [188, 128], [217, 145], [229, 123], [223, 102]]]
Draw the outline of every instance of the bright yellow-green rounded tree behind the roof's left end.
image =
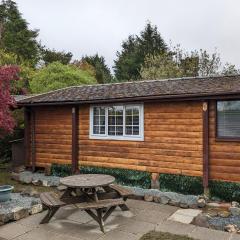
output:
[[96, 79], [88, 71], [81, 70], [74, 65], [53, 62], [36, 70], [30, 80], [30, 89], [33, 93], [42, 93], [96, 82]]

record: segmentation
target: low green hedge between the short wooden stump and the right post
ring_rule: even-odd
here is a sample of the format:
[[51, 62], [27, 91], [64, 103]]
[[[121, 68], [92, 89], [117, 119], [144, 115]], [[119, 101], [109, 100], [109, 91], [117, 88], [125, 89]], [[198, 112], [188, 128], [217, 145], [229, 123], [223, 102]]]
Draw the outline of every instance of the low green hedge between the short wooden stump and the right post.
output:
[[160, 188], [183, 194], [202, 194], [203, 185], [201, 177], [191, 177], [175, 174], [160, 174]]

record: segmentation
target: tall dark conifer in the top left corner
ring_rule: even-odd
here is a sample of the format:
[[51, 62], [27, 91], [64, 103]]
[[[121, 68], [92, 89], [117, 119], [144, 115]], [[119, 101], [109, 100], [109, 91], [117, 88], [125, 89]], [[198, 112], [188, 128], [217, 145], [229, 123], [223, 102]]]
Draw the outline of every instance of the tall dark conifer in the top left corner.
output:
[[28, 23], [12, 0], [0, 4], [0, 48], [15, 53], [18, 58], [36, 64], [39, 57], [38, 30], [30, 30]]

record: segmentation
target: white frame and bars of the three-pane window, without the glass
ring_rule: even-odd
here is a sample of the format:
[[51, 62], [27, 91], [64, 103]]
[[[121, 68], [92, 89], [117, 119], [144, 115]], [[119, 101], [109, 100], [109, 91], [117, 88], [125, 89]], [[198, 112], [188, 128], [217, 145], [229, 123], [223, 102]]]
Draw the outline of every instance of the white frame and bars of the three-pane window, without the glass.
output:
[[[123, 106], [123, 136], [108, 135], [108, 107], [111, 106]], [[126, 107], [138, 107], [139, 108], [139, 135], [126, 135]], [[93, 133], [93, 108], [104, 107], [105, 108], [105, 134]], [[102, 139], [102, 140], [131, 140], [131, 141], [144, 141], [144, 104], [143, 103], [124, 103], [124, 104], [97, 104], [90, 106], [89, 112], [89, 138], [90, 139]]]

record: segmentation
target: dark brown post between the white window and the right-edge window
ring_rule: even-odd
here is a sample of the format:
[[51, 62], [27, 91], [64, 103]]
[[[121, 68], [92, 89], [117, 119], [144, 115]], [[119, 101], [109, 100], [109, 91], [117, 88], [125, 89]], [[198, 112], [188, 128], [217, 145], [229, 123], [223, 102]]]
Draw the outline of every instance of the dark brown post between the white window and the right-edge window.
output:
[[204, 101], [203, 113], [203, 187], [204, 194], [209, 195], [209, 102]]

